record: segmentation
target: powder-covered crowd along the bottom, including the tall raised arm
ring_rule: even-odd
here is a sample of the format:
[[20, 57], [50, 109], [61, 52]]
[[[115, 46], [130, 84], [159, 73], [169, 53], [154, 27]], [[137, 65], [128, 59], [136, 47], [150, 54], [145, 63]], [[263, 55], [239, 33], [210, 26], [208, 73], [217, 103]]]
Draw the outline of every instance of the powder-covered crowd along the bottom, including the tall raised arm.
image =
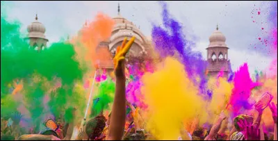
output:
[[[133, 39], [134, 40], [134, 39]], [[132, 103], [126, 101], [126, 76], [124, 56], [131, 47], [133, 40], [122, 44], [117, 50], [115, 63], [115, 98], [111, 113], [106, 118], [100, 113], [92, 119], [88, 119], [80, 128], [79, 133], [74, 138], [74, 126], [76, 119], [65, 122], [62, 117], [47, 120], [40, 129], [24, 129], [19, 126], [21, 115], [10, 118], [1, 117], [1, 140], [156, 140], [145, 130], [145, 124], [140, 116], [140, 112]], [[131, 114], [126, 116], [126, 107], [131, 109]], [[256, 114], [238, 115], [233, 120], [233, 128], [227, 126], [227, 115], [224, 111], [215, 119], [215, 122], [208, 128], [199, 125], [196, 118], [193, 121], [190, 131], [181, 129], [181, 135], [177, 140], [277, 140], [277, 104], [256, 103]], [[261, 124], [263, 110], [270, 108], [272, 111], [273, 131], [264, 130]], [[76, 108], [67, 109], [67, 114], [72, 117], [76, 115]], [[10, 122], [13, 119], [13, 122]], [[18, 120], [19, 119], [19, 120]], [[43, 127], [43, 128], [42, 128]]]

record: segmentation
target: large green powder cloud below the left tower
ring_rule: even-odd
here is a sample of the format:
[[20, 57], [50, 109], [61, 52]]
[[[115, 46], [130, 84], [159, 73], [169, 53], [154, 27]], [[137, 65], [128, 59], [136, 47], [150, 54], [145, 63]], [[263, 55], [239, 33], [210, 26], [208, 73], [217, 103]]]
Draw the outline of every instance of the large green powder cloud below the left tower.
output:
[[[85, 105], [85, 99], [81, 96], [83, 93], [72, 89], [75, 89], [75, 84], [82, 80], [86, 67], [75, 60], [76, 53], [73, 45], [69, 42], [57, 42], [40, 52], [35, 51], [33, 47], [29, 48], [28, 42], [21, 37], [22, 34], [19, 32], [21, 24], [8, 21], [3, 13], [1, 11], [1, 97], [9, 93], [8, 85], [16, 79], [22, 80], [23, 83], [20, 85], [24, 86], [23, 102], [27, 103], [25, 105], [31, 118], [40, 120], [41, 115], [38, 111], [44, 110], [40, 105], [43, 103], [42, 97], [45, 92], [54, 87], [49, 86], [49, 90], [42, 90], [33, 85], [32, 75], [36, 73], [47, 78], [47, 81], [54, 77], [60, 79], [61, 88], [50, 94], [49, 108], [54, 115], [60, 115], [70, 106], [77, 106], [82, 111], [81, 107]], [[41, 87], [48, 85], [46, 81], [40, 83]], [[51, 82], [51, 84], [55, 83]], [[15, 88], [15, 95], [20, 92], [22, 86]], [[9, 107], [13, 111], [13, 106]]]

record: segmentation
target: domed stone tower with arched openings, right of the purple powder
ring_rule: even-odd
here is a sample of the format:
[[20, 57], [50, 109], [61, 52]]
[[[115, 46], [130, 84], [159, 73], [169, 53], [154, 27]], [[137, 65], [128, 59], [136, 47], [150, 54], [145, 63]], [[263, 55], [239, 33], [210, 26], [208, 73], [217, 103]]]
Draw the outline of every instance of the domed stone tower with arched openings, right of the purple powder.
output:
[[209, 37], [210, 44], [206, 48], [207, 51], [207, 72], [209, 76], [217, 76], [218, 72], [223, 70], [224, 77], [228, 77], [230, 71], [230, 62], [228, 59], [228, 47], [225, 44], [225, 36], [218, 31], [218, 25], [216, 31], [214, 31]]

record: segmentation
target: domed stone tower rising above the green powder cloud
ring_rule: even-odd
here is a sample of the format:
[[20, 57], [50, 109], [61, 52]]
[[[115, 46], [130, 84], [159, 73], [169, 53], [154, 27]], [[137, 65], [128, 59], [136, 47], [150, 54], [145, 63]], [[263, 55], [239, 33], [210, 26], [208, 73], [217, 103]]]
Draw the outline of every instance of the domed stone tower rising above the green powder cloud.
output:
[[45, 28], [44, 25], [38, 22], [38, 15], [35, 15], [35, 22], [32, 22], [28, 28], [28, 37], [30, 47], [38, 49], [40, 51], [44, 47], [47, 47], [47, 38], [45, 38]]

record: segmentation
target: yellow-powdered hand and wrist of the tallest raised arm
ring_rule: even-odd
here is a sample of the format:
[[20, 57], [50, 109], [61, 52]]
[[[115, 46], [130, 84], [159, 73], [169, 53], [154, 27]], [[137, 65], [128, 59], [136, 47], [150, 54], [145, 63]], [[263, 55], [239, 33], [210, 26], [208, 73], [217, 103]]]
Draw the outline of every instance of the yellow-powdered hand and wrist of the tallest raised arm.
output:
[[127, 43], [126, 40], [127, 39], [124, 38], [124, 41], [122, 42], [122, 47], [117, 47], [115, 57], [113, 58], [115, 76], [124, 76], [124, 58], [126, 56], [126, 53], [131, 48], [131, 45], [133, 44], [135, 37], [131, 38], [131, 40], [129, 40], [129, 42]]

